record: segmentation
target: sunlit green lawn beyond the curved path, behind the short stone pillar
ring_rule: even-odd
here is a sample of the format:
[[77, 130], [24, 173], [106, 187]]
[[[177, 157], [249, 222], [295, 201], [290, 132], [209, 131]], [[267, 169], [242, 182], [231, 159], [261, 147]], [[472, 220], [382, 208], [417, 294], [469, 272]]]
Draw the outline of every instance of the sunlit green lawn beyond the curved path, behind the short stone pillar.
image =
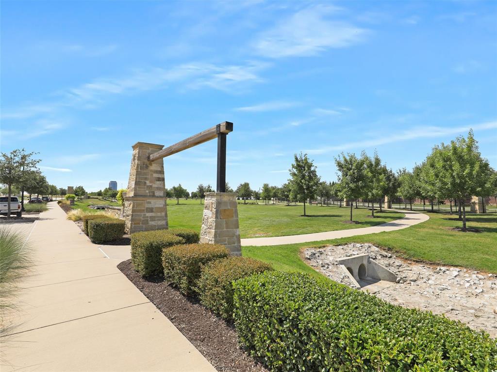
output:
[[[200, 231], [204, 205], [199, 200], [167, 200], [167, 218], [170, 228], [183, 227]], [[356, 229], [390, 222], [404, 217], [402, 212], [375, 212], [377, 218], [368, 217], [371, 211], [365, 208], [353, 210], [354, 221], [360, 224], [346, 224], [350, 209], [337, 206], [306, 206], [306, 214], [302, 204], [238, 204], [240, 220], [240, 234], [242, 238], [277, 237], [283, 235], [297, 235], [320, 233], [323, 231]]]

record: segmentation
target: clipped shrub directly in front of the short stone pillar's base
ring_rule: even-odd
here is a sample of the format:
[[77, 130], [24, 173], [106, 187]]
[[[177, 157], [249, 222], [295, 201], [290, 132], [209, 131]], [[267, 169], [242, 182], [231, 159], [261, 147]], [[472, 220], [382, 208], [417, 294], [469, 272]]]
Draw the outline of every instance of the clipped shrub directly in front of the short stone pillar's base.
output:
[[202, 266], [228, 255], [228, 249], [221, 244], [187, 244], [163, 249], [164, 277], [182, 294], [192, 295]]

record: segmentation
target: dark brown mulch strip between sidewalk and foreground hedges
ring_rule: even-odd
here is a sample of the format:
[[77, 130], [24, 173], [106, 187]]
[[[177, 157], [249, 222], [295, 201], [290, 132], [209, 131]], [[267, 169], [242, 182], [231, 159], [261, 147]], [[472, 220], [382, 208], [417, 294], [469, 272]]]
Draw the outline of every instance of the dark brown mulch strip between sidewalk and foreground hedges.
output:
[[197, 300], [186, 298], [162, 278], [144, 279], [131, 264], [117, 268], [176, 326], [219, 372], [265, 372], [238, 346], [233, 325], [218, 318]]

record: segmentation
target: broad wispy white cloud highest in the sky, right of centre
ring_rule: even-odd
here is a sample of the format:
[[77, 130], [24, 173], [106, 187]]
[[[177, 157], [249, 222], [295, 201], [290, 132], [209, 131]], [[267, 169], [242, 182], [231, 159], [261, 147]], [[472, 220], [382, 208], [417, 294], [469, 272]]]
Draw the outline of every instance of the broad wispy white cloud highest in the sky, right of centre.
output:
[[316, 5], [302, 9], [261, 35], [254, 43], [257, 54], [270, 58], [315, 56], [330, 48], [344, 48], [361, 40], [365, 29], [327, 19], [337, 7]]

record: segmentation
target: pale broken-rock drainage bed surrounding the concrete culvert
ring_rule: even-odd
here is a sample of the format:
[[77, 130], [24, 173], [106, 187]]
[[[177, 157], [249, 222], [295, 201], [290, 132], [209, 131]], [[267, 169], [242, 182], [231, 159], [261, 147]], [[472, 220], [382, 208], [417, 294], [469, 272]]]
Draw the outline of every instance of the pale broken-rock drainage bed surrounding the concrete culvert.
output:
[[303, 256], [332, 280], [353, 287], [337, 259], [363, 253], [398, 277], [397, 283], [374, 292], [375, 296], [394, 305], [445, 314], [497, 337], [496, 274], [413, 262], [371, 244], [307, 248]]

